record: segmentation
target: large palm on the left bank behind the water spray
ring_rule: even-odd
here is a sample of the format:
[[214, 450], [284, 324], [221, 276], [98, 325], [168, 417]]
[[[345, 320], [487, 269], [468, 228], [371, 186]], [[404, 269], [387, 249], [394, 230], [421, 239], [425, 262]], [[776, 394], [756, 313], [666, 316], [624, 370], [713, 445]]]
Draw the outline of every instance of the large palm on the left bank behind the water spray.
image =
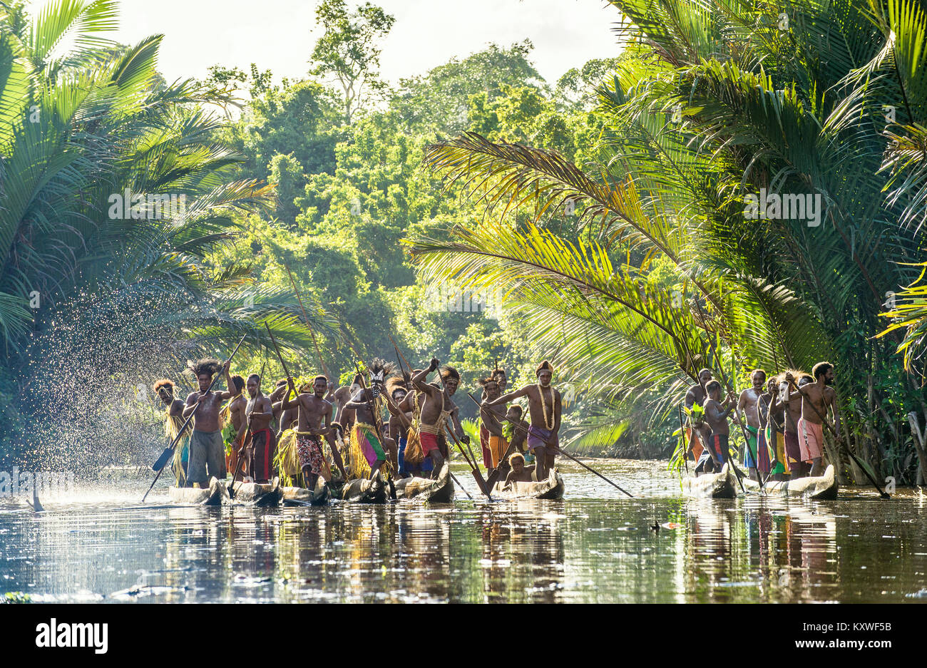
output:
[[208, 93], [164, 82], [159, 35], [101, 36], [115, 17], [113, 0], [35, 17], [0, 3], [0, 384], [26, 431], [246, 332], [267, 345], [265, 321], [286, 349], [311, 347], [293, 296], [205, 260], [233, 238], [232, 212], [269, 208], [272, 189], [231, 179], [243, 158], [216, 141]]

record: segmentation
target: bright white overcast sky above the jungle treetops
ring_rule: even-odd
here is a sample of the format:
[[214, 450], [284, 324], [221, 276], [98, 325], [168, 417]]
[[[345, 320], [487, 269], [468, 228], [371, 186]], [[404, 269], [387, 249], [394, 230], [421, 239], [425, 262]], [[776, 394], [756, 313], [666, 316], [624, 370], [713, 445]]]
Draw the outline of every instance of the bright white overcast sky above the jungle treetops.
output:
[[[617, 10], [604, 0], [373, 0], [396, 17], [383, 47], [387, 80], [422, 74], [489, 42], [530, 39], [540, 74], [555, 82], [593, 57], [617, 55]], [[41, 4], [41, 3], [36, 3]], [[116, 39], [134, 44], [163, 33], [159, 69], [174, 79], [206, 75], [210, 65], [273, 70], [302, 78], [318, 32], [317, 0], [121, 0]], [[358, 0], [349, 0], [356, 6]]]

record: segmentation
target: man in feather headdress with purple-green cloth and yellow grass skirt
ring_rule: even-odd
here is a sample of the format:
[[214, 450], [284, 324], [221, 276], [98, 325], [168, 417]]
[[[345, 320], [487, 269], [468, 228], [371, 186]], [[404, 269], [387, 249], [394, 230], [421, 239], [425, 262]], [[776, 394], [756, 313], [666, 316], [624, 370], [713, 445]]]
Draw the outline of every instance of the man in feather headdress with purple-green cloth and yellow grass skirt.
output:
[[357, 393], [345, 404], [345, 410], [354, 411], [354, 425], [350, 430], [350, 468], [355, 477], [364, 477], [369, 467], [370, 478], [373, 479], [387, 461], [378, 425], [386, 404], [383, 385], [392, 372], [391, 363], [374, 359], [370, 365], [370, 386], [358, 387]]

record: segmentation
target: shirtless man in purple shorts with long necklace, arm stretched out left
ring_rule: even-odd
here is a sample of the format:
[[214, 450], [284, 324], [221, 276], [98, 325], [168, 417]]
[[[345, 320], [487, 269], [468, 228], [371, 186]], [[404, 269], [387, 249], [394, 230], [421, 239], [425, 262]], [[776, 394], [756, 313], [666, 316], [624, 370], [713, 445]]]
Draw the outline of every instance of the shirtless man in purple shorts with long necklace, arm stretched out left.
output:
[[553, 468], [556, 453], [560, 450], [558, 434], [562, 413], [561, 397], [560, 392], [551, 385], [551, 362], [545, 359], [535, 374], [538, 384], [525, 385], [502, 397], [484, 401], [483, 405], [504, 406], [518, 397], [527, 397], [527, 409], [531, 417], [531, 425], [527, 431], [527, 447], [534, 453], [535, 475], [538, 480], [547, 480], [548, 471]]

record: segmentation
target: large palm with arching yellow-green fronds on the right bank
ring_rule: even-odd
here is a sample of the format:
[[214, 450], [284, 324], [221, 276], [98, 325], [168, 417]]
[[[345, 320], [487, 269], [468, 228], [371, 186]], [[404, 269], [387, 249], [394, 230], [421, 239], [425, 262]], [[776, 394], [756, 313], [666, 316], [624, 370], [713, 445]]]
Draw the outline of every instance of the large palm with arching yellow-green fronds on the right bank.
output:
[[[426, 165], [496, 221], [413, 240], [425, 277], [511, 285], [508, 306], [572, 380], [613, 398], [663, 387], [657, 415], [699, 366], [736, 379], [832, 359], [853, 447], [878, 464], [881, 400], [867, 384], [892, 367], [871, 337], [884, 294], [915, 278], [905, 263], [920, 243], [899, 224], [913, 194], [886, 197], [878, 175], [883, 108], [906, 108], [886, 57], [900, 47], [880, 23], [893, 3], [611, 4], [629, 54], [599, 91], [597, 161], [472, 133], [433, 145]], [[745, 215], [766, 192], [826, 208]], [[545, 232], [567, 204], [583, 214], [572, 238]], [[525, 208], [533, 221], [513, 221]], [[674, 268], [677, 295], [647, 282], [653, 258]], [[909, 379], [893, 384], [911, 400]]]

